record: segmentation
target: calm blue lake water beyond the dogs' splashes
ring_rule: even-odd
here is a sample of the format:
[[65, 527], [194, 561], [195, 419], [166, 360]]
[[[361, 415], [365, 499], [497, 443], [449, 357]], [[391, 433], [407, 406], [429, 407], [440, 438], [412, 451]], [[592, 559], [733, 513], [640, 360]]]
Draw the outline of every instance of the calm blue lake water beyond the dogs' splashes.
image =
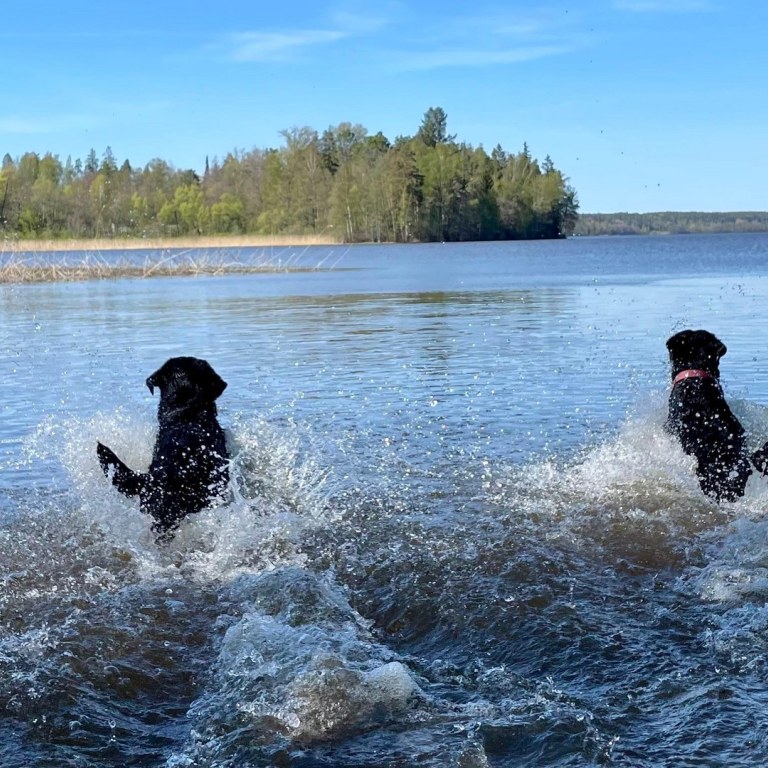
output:
[[[728, 273], [691, 282], [685, 257], [695, 275]], [[51, 414], [124, 405], [150, 418], [141, 382], [176, 354], [227, 371], [232, 412], [390, 439], [440, 421], [511, 458], [572, 450], [663, 385], [663, 341], [686, 325], [732, 340], [725, 381], [748, 373], [761, 396], [749, 329], [764, 288], [739, 273], [765, 261], [760, 236], [363, 246], [345, 249], [342, 271], [7, 286], [3, 455]]]

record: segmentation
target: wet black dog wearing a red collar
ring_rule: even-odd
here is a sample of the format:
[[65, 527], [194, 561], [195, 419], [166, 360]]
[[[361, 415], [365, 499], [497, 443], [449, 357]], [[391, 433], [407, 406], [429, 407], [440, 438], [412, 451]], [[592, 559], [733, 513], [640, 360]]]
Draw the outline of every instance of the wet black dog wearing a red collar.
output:
[[744, 495], [752, 467], [744, 428], [720, 386], [720, 358], [727, 348], [709, 331], [687, 330], [670, 337], [667, 349], [672, 366], [667, 428], [696, 457], [701, 490], [717, 501], [734, 501]]

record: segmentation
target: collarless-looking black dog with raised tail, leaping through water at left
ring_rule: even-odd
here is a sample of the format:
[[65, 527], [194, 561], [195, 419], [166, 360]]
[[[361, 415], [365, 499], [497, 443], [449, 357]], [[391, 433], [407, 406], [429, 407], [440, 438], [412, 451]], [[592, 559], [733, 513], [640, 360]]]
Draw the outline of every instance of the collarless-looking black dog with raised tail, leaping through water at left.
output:
[[187, 515], [200, 512], [229, 482], [224, 431], [216, 419], [216, 398], [227, 383], [205, 361], [173, 357], [148, 379], [149, 391], [160, 390], [159, 428], [152, 463], [134, 472], [115, 453], [98, 443], [104, 474], [126, 496], [138, 496], [141, 510], [154, 518], [160, 539]]

